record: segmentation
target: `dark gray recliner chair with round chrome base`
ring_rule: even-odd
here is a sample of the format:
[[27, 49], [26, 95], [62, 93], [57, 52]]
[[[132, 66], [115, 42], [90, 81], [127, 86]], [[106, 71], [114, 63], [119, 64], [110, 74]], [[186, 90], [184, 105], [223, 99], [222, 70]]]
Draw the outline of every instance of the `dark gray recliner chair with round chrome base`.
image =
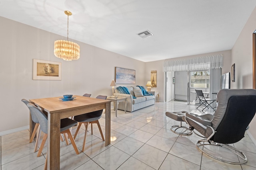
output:
[[[218, 107], [214, 115], [201, 116], [186, 113], [185, 121], [190, 129], [198, 131], [201, 137], [196, 145], [208, 156], [230, 164], [244, 164], [247, 158], [243, 152], [229, 145], [240, 141], [256, 112], [256, 90], [224, 89], [217, 94]], [[195, 133], [195, 131], [194, 131]], [[236, 154], [236, 160], [219, 156], [220, 147]], [[215, 152], [215, 153], [214, 153]]]

